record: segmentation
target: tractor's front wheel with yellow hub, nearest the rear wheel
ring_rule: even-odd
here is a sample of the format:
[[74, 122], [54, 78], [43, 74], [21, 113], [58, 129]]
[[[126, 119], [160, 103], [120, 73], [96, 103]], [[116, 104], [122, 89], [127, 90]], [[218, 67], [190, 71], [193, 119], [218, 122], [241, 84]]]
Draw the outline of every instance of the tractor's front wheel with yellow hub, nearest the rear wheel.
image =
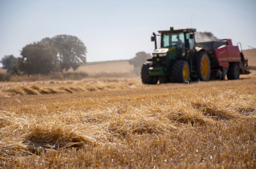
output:
[[174, 83], [185, 83], [189, 81], [190, 72], [189, 64], [187, 61], [178, 60], [173, 63], [172, 66], [172, 81]]

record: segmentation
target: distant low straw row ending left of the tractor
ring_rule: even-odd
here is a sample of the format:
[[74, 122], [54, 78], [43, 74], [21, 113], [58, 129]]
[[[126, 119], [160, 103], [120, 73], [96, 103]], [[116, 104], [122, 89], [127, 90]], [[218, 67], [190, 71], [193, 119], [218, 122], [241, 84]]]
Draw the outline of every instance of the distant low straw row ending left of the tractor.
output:
[[99, 78], [98, 80], [88, 78], [80, 81], [5, 82], [0, 84], [0, 96], [109, 91], [136, 87], [136, 83], [138, 83], [138, 81], [131, 78], [120, 78], [119, 80], [113, 78]]

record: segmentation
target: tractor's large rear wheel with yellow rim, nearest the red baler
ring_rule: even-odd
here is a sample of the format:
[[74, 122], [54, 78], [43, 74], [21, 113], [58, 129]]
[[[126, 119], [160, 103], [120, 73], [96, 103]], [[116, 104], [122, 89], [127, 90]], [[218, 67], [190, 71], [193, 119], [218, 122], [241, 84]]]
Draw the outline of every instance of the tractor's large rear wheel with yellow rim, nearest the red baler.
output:
[[211, 64], [207, 53], [202, 50], [195, 57], [195, 70], [201, 81], [209, 81], [211, 77]]

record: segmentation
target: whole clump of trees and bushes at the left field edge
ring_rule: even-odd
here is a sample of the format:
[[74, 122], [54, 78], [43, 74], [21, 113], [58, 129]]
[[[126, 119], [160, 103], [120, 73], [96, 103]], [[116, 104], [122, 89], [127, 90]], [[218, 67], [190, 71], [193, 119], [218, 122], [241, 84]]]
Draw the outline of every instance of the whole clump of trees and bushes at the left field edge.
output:
[[1, 63], [12, 74], [49, 74], [70, 68], [76, 70], [86, 62], [86, 52], [86, 47], [79, 38], [60, 34], [26, 45], [20, 52], [21, 57], [5, 55]]

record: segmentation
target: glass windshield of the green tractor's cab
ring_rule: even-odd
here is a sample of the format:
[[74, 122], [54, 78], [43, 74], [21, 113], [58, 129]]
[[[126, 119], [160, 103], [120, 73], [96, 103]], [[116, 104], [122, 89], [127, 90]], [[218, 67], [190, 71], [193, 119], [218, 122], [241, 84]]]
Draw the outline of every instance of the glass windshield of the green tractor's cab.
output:
[[171, 48], [176, 45], [179, 48], [184, 47], [184, 33], [163, 34], [161, 48]]

